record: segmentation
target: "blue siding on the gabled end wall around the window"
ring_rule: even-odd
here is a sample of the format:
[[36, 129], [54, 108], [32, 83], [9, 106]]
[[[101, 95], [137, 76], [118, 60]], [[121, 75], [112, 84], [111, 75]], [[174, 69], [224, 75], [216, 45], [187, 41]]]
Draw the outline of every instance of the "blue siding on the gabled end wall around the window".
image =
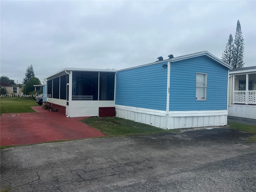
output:
[[[226, 110], [228, 69], [207, 56], [172, 62], [170, 111]], [[207, 74], [206, 101], [196, 101], [196, 72]]]

